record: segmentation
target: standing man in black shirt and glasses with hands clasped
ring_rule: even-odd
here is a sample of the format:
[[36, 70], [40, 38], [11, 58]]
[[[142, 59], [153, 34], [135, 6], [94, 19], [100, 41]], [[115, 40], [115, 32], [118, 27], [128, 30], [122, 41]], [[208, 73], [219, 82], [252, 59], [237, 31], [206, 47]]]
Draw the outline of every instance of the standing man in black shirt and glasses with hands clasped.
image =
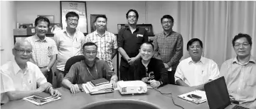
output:
[[139, 13], [130, 9], [126, 13], [129, 28], [123, 28], [119, 31], [117, 37], [118, 52], [122, 55], [120, 62], [120, 79], [127, 81], [133, 80], [133, 74], [129, 74], [130, 65], [139, 59], [139, 47], [143, 42], [149, 42], [148, 35], [144, 28], [136, 26], [139, 19]]

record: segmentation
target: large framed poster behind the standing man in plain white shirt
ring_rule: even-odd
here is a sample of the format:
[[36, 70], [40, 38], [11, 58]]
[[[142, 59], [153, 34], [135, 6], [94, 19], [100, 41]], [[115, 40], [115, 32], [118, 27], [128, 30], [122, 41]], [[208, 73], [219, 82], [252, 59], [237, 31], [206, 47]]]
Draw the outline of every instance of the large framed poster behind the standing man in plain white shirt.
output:
[[82, 33], [87, 33], [87, 13], [86, 13], [86, 2], [85, 1], [60, 1], [60, 21], [62, 23], [62, 28], [67, 27], [67, 23], [65, 23], [65, 15], [74, 11], [78, 13], [79, 21], [78, 21], [78, 30]]

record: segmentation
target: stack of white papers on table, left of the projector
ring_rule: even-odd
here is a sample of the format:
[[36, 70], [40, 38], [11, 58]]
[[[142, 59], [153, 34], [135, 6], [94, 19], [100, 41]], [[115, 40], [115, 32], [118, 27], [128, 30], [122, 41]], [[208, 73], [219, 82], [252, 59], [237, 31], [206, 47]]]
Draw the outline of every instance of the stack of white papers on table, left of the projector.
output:
[[86, 84], [82, 84], [82, 88], [86, 93], [90, 94], [109, 93], [114, 91], [110, 82], [105, 82], [105, 84], [95, 86], [95, 84], [92, 84], [92, 81], [89, 81]]

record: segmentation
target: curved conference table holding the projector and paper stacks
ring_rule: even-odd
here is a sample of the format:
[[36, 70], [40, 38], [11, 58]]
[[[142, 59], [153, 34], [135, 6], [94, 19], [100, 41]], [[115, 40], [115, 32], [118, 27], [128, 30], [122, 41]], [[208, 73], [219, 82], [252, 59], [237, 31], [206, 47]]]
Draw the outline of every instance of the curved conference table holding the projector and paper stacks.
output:
[[[183, 93], [188, 93], [193, 91], [193, 88], [176, 86], [167, 84], [156, 89], [148, 88], [146, 93], [134, 94], [134, 95], [121, 95], [119, 91], [114, 91], [113, 93], [102, 93], [96, 95], [90, 95], [90, 93], [80, 92], [80, 93], [70, 93], [67, 88], [57, 88], [60, 93], [62, 93], [61, 99], [58, 101], [53, 101], [46, 103], [44, 105], [35, 105], [28, 101], [18, 100], [11, 101], [4, 105], [1, 105], [2, 109], [80, 109], [85, 108], [87, 105], [107, 102], [107, 101], [142, 101], [144, 103], [149, 103], [160, 109], [181, 109], [176, 105], [180, 105], [185, 109], [208, 109], [207, 101], [201, 104], [195, 104], [188, 101], [184, 101], [178, 98], [179, 95]], [[171, 93], [171, 94], [161, 94], [161, 93]], [[171, 96], [172, 95], [172, 96]], [[173, 101], [171, 100], [173, 98]], [[125, 107], [120, 107], [125, 108]]]

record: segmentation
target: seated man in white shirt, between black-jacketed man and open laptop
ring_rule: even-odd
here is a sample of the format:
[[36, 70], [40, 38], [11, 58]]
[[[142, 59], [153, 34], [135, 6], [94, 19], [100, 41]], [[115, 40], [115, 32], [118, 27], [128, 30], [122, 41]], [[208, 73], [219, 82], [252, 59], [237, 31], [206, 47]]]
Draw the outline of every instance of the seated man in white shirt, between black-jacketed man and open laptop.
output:
[[204, 84], [218, 78], [220, 74], [218, 64], [212, 59], [202, 57], [203, 42], [198, 38], [188, 41], [187, 50], [191, 57], [183, 59], [178, 64], [174, 74], [175, 82], [180, 86], [204, 90]]

